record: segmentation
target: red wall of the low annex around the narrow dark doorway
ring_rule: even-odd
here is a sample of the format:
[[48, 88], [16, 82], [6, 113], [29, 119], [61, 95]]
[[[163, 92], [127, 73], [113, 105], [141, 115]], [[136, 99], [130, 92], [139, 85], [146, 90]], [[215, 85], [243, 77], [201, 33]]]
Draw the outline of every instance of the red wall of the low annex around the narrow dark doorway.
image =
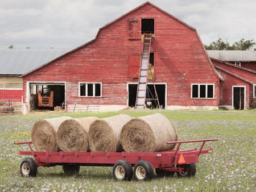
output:
[[224, 81], [220, 83], [220, 106], [225, 106], [226, 108], [232, 109], [232, 86], [246, 86], [246, 108], [251, 106], [252, 91], [251, 85], [245, 81], [240, 80], [222, 70], [217, 70], [224, 78]]

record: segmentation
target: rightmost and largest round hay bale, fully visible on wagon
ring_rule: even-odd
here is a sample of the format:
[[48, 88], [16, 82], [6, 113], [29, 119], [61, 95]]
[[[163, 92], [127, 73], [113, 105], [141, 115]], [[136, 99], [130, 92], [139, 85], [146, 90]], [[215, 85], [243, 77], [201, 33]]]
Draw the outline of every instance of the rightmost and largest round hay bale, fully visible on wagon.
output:
[[160, 114], [131, 119], [121, 131], [121, 144], [126, 152], [156, 152], [171, 150], [176, 141], [177, 132], [174, 125]]

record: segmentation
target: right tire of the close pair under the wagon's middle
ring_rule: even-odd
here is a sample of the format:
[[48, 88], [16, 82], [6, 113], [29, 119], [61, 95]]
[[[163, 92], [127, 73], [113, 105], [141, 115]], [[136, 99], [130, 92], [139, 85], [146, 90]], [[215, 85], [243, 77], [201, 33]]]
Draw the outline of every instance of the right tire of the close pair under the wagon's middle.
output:
[[138, 181], [150, 180], [154, 175], [153, 166], [147, 161], [138, 161], [134, 166], [133, 177]]

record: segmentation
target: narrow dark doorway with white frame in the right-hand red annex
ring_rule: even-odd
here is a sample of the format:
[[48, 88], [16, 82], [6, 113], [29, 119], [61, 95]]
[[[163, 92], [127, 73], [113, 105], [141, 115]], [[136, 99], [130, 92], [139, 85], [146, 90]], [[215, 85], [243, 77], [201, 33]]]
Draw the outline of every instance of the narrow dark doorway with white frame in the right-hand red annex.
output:
[[245, 109], [245, 87], [233, 87], [234, 110]]

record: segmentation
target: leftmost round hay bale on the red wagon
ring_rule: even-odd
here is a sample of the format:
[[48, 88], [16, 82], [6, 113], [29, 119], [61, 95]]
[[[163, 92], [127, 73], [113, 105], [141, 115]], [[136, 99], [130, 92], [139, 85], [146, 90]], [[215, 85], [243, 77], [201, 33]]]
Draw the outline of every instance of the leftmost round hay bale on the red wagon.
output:
[[36, 151], [57, 151], [57, 130], [64, 120], [72, 119], [69, 116], [39, 120], [32, 127], [31, 139]]

